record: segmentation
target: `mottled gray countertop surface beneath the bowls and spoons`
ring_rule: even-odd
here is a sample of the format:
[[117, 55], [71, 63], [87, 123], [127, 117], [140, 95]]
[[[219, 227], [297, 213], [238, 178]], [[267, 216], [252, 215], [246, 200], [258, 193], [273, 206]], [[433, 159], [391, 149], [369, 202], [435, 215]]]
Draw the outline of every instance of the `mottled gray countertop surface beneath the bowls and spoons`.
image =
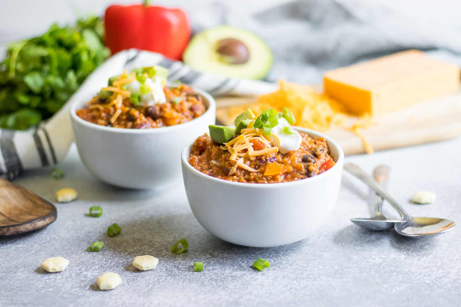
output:
[[[389, 191], [410, 214], [461, 223], [460, 150], [461, 139], [454, 139], [349, 156], [346, 162], [369, 172], [377, 164], [390, 165]], [[456, 306], [461, 301], [461, 228], [422, 239], [362, 230], [349, 219], [368, 216], [370, 194], [349, 174], [343, 174], [331, 220], [317, 234], [256, 249], [226, 243], [203, 229], [181, 181], [162, 192], [115, 188], [84, 168], [75, 147], [60, 167], [66, 172], [61, 180], [41, 169], [15, 181], [50, 200], [63, 187], [75, 188], [79, 197], [56, 204], [58, 219], [46, 228], [0, 238], [2, 306]], [[436, 192], [436, 202], [410, 203], [420, 190]], [[86, 217], [91, 205], [101, 206], [104, 214]], [[307, 200], [306, 205], [315, 204]], [[114, 222], [122, 234], [111, 238], [106, 229]], [[171, 245], [182, 237], [189, 241], [188, 251], [171, 254]], [[106, 245], [99, 253], [86, 252], [95, 240]], [[131, 265], [137, 255], [153, 255], [159, 265], [137, 271]], [[40, 263], [52, 256], [67, 258], [67, 269], [44, 272]], [[266, 271], [252, 268], [259, 257], [270, 261]], [[194, 261], [204, 261], [203, 272], [193, 271]], [[118, 273], [122, 284], [100, 291], [95, 281], [104, 272]]]

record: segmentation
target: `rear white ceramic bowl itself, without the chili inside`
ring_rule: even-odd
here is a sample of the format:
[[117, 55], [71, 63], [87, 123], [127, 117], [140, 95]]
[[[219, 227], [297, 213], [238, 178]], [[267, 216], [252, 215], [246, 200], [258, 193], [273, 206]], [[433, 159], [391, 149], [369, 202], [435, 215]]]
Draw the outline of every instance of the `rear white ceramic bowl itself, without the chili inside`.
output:
[[213, 97], [199, 89], [207, 105], [201, 116], [182, 124], [154, 129], [100, 126], [78, 117], [86, 101], [71, 105], [75, 142], [83, 164], [100, 180], [134, 189], [162, 189], [181, 178], [179, 156], [184, 145], [214, 124]]

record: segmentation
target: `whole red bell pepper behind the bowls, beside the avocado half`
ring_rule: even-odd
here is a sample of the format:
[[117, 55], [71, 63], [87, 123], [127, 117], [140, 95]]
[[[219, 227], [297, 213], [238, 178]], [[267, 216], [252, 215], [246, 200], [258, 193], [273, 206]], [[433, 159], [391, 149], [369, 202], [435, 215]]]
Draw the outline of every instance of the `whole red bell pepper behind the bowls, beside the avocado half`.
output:
[[107, 7], [106, 46], [112, 54], [138, 48], [180, 60], [190, 39], [189, 17], [181, 9], [149, 6], [147, 2]]

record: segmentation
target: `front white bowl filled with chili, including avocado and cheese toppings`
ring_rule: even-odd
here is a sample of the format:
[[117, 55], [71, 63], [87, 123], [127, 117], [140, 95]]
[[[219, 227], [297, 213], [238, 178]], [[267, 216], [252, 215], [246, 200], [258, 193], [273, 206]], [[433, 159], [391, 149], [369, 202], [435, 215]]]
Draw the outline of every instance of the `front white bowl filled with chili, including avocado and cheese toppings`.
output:
[[343, 150], [326, 135], [291, 126], [291, 117], [285, 108], [260, 116], [247, 110], [236, 127], [212, 125], [183, 149], [189, 205], [208, 232], [273, 247], [308, 237], [331, 215]]

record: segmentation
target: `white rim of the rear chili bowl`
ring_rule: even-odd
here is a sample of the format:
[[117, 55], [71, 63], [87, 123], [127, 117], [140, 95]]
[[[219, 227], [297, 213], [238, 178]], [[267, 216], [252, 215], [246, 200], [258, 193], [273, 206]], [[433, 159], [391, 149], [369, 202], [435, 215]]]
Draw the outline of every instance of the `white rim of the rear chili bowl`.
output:
[[[208, 101], [207, 110], [201, 116], [205, 116], [206, 114], [212, 112], [212, 110], [216, 109], [216, 102], [214, 101], [214, 98], [209, 93], [197, 87], [192, 87], [192, 88], [194, 89], [196, 93], [199, 93], [201, 96], [205, 97]], [[74, 120], [75, 122], [78, 122], [80, 125], [89, 127], [90, 129], [110, 131], [113, 133], [145, 134], [145, 133], [162, 133], [162, 132], [165, 132], [165, 130], [174, 131], [178, 129], [187, 128], [190, 125], [193, 125], [195, 120], [201, 118], [201, 116], [199, 116], [197, 118], [194, 118], [193, 120], [190, 120], [189, 122], [183, 122], [183, 123], [173, 125], [173, 126], [166, 126], [166, 127], [152, 128], [152, 129], [114, 128], [114, 127], [106, 127], [106, 126], [98, 125], [93, 122], [88, 122], [88, 121], [85, 121], [83, 118], [80, 118], [79, 116], [77, 116], [77, 113], [76, 113], [77, 105], [81, 103], [82, 101], [76, 100], [71, 104], [70, 112], [71, 112], [72, 120]]]

